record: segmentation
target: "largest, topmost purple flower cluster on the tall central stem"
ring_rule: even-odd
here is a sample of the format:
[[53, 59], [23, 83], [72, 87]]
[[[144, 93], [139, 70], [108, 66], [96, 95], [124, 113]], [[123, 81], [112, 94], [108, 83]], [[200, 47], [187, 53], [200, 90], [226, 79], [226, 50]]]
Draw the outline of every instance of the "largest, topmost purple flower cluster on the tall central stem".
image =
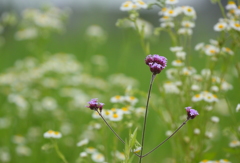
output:
[[167, 58], [157, 54], [148, 55], [145, 59], [145, 63], [150, 67], [150, 71], [156, 75], [167, 66]]

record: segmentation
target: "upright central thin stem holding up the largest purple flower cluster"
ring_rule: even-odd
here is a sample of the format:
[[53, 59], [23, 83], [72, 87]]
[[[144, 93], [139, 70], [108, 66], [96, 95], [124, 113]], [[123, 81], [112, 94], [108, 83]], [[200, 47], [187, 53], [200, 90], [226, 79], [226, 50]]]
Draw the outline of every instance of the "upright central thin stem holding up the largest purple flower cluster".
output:
[[148, 90], [146, 111], [145, 111], [145, 117], [144, 117], [144, 122], [143, 122], [142, 143], [141, 143], [142, 149], [141, 149], [139, 163], [142, 162], [142, 153], [143, 153], [143, 147], [144, 147], [145, 130], [146, 130], [146, 124], [147, 124], [148, 105], [149, 105], [150, 94], [151, 94], [151, 90], [152, 90], [152, 84], [153, 84], [153, 81], [154, 81], [155, 77], [156, 77], [156, 75], [152, 74], [152, 78], [151, 78], [150, 86], [149, 86], [149, 90]]

